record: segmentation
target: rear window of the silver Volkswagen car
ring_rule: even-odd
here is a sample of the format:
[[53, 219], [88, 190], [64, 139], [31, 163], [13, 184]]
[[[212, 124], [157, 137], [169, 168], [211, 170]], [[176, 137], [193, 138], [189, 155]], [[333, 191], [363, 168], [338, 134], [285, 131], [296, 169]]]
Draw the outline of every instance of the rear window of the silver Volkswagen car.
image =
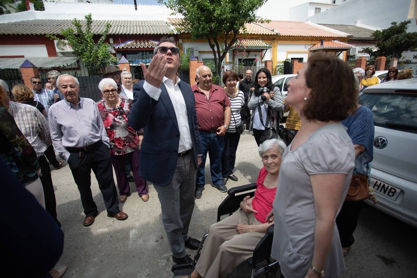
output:
[[369, 108], [374, 125], [417, 133], [417, 92], [362, 93], [358, 103]]

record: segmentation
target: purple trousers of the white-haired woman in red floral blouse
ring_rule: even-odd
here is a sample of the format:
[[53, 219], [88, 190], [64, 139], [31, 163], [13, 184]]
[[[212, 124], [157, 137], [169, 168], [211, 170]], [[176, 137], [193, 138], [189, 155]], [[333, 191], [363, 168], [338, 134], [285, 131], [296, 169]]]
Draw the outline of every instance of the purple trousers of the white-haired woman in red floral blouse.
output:
[[111, 164], [113, 164], [114, 171], [116, 172], [117, 187], [119, 188], [120, 195], [129, 195], [130, 186], [128, 177], [126, 175], [126, 159], [132, 165], [133, 178], [135, 178], [136, 190], [138, 190], [139, 196], [148, 193], [148, 184], [143, 178], [139, 178], [139, 158], [141, 156], [141, 150], [135, 150], [126, 155], [111, 155]]

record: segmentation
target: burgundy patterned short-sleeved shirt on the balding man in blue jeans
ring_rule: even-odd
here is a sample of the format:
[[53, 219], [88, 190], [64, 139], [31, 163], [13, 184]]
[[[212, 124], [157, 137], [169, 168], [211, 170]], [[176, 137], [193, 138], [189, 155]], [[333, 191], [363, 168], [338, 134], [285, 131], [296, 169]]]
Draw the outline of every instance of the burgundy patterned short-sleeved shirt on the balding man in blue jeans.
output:
[[206, 94], [198, 89], [198, 84], [191, 89], [196, 99], [198, 129], [211, 131], [224, 125], [224, 109], [231, 105], [224, 89], [212, 84], [208, 100]]

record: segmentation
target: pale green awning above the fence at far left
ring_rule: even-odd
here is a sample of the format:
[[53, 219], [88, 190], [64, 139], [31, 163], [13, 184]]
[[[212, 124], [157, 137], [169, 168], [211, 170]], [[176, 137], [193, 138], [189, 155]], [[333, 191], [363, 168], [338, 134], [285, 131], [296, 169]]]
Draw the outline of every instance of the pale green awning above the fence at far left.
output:
[[26, 57], [26, 58], [0, 58], [0, 68], [20, 68], [25, 60], [38, 68], [66, 66], [78, 61], [78, 57]]

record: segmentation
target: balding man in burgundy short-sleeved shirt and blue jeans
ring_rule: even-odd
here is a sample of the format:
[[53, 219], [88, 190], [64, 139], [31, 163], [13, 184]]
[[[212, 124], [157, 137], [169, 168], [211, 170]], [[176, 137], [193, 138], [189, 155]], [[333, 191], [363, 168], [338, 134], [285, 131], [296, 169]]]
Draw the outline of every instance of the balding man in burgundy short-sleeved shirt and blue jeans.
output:
[[224, 149], [224, 135], [229, 129], [230, 100], [224, 89], [211, 84], [211, 70], [205, 65], [197, 68], [198, 83], [191, 86], [196, 99], [197, 123], [200, 132], [203, 155], [197, 170], [196, 198], [201, 198], [204, 190], [207, 152], [210, 157], [211, 181], [221, 192], [227, 192], [226, 179], [221, 175], [221, 155]]

